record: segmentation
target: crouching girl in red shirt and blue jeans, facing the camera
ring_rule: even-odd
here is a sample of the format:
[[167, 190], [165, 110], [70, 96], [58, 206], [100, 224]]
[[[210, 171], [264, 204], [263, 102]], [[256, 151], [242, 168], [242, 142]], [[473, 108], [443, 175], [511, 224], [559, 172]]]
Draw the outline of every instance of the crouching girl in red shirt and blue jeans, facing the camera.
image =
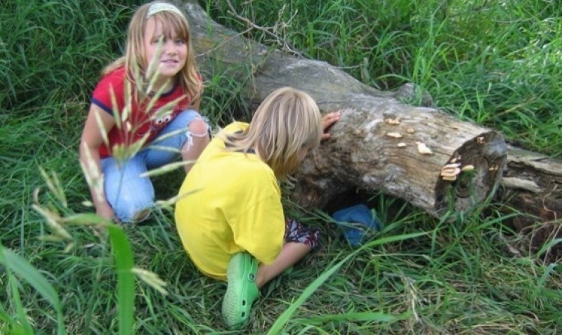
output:
[[209, 143], [199, 114], [202, 79], [188, 21], [166, 2], [137, 9], [125, 55], [103, 70], [80, 143], [96, 213], [121, 222], [147, 218], [155, 202], [148, 176], [181, 157], [188, 173]]

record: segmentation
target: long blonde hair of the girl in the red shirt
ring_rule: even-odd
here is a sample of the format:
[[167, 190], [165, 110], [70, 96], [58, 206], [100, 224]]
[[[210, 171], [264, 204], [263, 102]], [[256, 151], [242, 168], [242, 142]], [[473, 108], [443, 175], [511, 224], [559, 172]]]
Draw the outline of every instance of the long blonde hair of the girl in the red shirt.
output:
[[[139, 7], [129, 22], [129, 29], [127, 31], [125, 55], [107, 65], [102, 74], [107, 74], [117, 69], [118, 67], [125, 67], [127, 78], [129, 81], [138, 83], [139, 81], [146, 82], [146, 70], [148, 68], [148, 60], [145, 56], [144, 48], [144, 35], [145, 27], [149, 19], [154, 19], [155, 22], [162, 25], [164, 29], [164, 37], [171, 39], [172, 35], [177, 34], [177, 37], [183, 39], [188, 46], [188, 55], [185, 60], [183, 69], [178, 72], [177, 77], [179, 84], [188, 93], [192, 100], [199, 98], [202, 92], [202, 82], [200, 81], [199, 70], [197, 63], [195, 63], [195, 53], [193, 52], [191, 43], [191, 31], [188, 20], [185, 15], [181, 14], [179, 9], [172, 7], [174, 10], [160, 10], [155, 13], [150, 13], [152, 5], [167, 4], [166, 7], [173, 6], [164, 1], [152, 1]], [[149, 15], [150, 14], [150, 15]], [[136, 76], [140, 75], [141, 78]], [[136, 85], [137, 89], [138, 86]], [[138, 91], [137, 93], [142, 93]], [[139, 96], [142, 96], [140, 94]]]

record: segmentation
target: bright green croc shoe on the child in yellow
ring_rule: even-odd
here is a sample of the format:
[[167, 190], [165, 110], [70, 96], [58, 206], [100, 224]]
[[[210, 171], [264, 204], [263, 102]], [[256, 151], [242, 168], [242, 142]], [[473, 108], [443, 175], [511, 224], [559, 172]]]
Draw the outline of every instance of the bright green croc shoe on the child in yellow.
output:
[[230, 258], [226, 279], [228, 287], [223, 298], [223, 318], [228, 328], [240, 330], [248, 325], [251, 305], [259, 296], [256, 285], [258, 263], [242, 252]]

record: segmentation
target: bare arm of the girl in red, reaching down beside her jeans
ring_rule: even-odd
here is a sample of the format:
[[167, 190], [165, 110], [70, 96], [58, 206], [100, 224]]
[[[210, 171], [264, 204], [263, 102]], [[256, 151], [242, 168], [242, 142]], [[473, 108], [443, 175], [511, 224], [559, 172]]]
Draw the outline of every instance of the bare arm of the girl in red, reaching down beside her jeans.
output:
[[[98, 114], [99, 122], [103, 128], [98, 124], [96, 114]], [[84, 173], [89, 173], [89, 179], [101, 175], [99, 148], [103, 143], [103, 136], [109, 133], [113, 126], [115, 126], [115, 118], [112, 117], [112, 115], [108, 114], [97, 105], [92, 104], [90, 106], [88, 118], [86, 119], [84, 131], [82, 131], [80, 140], [80, 162], [84, 166]], [[102, 134], [102, 131], [104, 131], [105, 134]], [[90, 188], [92, 201], [94, 206], [96, 206], [96, 214], [104, 218], [113, 219], [113, 209], [110, 204], [107, 203], [107, 199], [105, 199], [103, 179], [100, 181], [101, 185], [98, 190], [101, 190], [101, 192], [96, 191], [93, 187]]]

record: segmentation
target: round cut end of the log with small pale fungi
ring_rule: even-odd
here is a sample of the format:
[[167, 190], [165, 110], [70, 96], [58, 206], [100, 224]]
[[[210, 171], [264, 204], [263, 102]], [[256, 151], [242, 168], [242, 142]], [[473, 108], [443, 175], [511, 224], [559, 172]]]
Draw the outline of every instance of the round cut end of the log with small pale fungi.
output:
[[467, 141], [441, 169], [436, 183], [435, 211], [469, 211], [492, 197], [504, 171], [507, 147], [495, 131]]

